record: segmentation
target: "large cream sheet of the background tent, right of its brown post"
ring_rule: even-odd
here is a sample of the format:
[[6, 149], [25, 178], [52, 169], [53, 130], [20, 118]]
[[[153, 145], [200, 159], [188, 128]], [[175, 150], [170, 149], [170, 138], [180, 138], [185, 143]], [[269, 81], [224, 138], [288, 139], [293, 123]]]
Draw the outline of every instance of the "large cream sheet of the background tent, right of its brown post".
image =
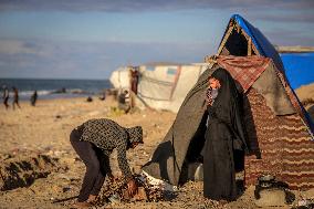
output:
[[137, 96], [155, 109], [177, 113], [189, 90], [197, 83], [207, 65], [161, 65], [142, 71]]

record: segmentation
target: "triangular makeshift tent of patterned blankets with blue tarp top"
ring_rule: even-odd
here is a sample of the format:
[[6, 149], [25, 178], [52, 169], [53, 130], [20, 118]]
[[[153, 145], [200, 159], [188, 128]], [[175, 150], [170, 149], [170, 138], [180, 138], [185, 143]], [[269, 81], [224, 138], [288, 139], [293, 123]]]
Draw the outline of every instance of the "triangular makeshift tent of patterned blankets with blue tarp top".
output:
[[185, 165], [198, 159], [205, 140], [208, 77], [220, 66], [231, 73], [243, 93], [243, 121], [252, 150], [244, 160], [245, 184], [254, 184], [262, 174], [273, 174], [291, 188], [313, 188], [314, 126], [291, 88], [273, 45], [236, 14], [218, 54], [206, 58], [206, 62], [218, 64], [205, 71], [189, 91], [172, 126], [143, 170], [172, 185], [186, 180]]

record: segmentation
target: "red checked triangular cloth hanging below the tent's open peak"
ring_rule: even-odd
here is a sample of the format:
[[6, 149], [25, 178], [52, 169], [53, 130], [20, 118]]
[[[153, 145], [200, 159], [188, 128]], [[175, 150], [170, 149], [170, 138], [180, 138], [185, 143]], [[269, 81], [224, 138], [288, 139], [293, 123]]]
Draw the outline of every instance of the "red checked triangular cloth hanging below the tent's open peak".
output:
[[253, 85], [259, 76], [266, 70], [271, 59], [263, 56], [232, 56], [219, 55], [217, 63], [227, 69], [234, 80], [243, 87], [244, 93]]

